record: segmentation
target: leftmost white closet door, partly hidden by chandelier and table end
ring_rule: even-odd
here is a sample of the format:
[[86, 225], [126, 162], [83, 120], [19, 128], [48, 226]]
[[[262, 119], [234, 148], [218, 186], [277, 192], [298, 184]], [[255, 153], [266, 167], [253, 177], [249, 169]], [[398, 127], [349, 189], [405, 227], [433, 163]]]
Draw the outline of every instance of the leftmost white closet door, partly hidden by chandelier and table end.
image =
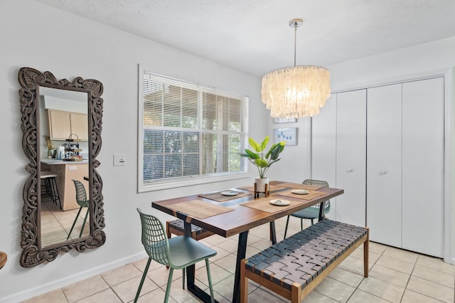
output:
[[[336, 187], [336, 94], [332, 94], [319, 115], [311, 118], [311, 179]], [[302, 180], [303, 181], [303, 180]], [[336, 220], [336, 198], [331, 198], [327, 217]]]

